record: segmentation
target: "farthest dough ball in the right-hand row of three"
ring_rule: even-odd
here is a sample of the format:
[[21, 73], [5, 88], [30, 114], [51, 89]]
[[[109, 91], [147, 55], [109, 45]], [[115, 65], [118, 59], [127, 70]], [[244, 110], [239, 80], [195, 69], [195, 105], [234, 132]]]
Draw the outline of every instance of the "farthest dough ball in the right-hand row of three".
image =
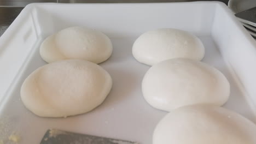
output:
[[201, 61], [205, 47], [195, 35], [173, 28], [149, 31], [136, 39], [132, 54], [137, 61], [154, 65], [171, 58], [190, 58]]

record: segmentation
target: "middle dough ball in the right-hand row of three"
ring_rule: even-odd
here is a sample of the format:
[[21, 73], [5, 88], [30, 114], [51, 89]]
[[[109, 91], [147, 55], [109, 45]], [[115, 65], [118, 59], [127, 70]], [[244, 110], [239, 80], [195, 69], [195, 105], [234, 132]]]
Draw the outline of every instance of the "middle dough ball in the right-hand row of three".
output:
[[193, 104], [223, 105], [229, 98], [230, 85], [226, 77], [210, 65], [174, 58], [147, 71], [142, 93], [156, 109], [171, 111]]

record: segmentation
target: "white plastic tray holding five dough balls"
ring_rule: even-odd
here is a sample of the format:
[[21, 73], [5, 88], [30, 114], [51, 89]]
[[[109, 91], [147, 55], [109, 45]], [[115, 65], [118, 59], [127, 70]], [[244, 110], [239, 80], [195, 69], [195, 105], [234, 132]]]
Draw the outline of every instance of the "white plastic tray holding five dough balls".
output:
[[[113, 78], [112, 91], [89, 113], [37, 117], [21, 103], [21, 84], [46, 64], [38, 52], [43, 39], [69, 26], [95, 28], [112, 40], [113, 55], [100, 64]], [[57, 128], [152, 143], [155, 125], [166, 112], [143, 99], [141, 81], [149, 66], [132, 57], [131, 47], [143, 32], [163, 27], [192, 32], [203, 41], [203, 62], [231, 83], [224, 107], [256, 122], [256, 43], [223, 3], [30, 4], [0, 38], [0, 140], [16, 132], [20, 143], [39, 143], [47, 129]]]

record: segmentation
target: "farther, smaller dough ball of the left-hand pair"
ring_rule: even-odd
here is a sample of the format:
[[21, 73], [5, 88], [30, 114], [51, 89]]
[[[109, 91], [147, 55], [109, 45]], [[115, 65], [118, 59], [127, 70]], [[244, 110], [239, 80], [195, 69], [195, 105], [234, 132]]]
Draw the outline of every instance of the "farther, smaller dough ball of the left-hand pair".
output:
[[62, 29], [46, 38], [40, 46], [40, 55], [48, 63], [63, 59], [101, 63], [112, 51], [112, 43], [105, 34], [83, 27]]

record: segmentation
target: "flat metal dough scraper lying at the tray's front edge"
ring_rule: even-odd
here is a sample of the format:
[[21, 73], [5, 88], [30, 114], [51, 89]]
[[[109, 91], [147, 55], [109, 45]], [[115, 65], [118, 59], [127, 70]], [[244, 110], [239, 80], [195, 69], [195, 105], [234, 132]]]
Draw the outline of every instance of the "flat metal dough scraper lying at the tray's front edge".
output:
[[110, 139], [107, 137], [72, 133], [57, 129], [46, 131], [40, 144], [138, 144], [137, 142]]

